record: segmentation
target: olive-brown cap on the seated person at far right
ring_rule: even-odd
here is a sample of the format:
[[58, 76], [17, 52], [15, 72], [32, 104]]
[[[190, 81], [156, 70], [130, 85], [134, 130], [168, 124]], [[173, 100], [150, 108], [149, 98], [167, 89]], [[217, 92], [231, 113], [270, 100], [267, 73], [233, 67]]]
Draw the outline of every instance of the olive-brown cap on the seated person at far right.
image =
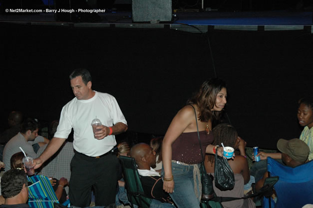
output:
[[277, 142], [277, 148], [279, 151], [287, 154], [293, 160], [301, 163], [306, 162], [310, 153], [309, 146], [300, 139], [280, 139]]

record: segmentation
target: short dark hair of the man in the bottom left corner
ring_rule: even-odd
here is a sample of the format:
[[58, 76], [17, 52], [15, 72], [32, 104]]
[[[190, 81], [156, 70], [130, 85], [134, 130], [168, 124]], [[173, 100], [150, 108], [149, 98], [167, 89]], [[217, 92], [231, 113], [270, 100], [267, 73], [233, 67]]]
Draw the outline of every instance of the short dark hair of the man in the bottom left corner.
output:
[[24, 170], [11, 169], [4, 172], [1, 177], [1, 194], [4, 199], [15, 197], [23, 189], [23, 185], [27, 187], [27, 178]]

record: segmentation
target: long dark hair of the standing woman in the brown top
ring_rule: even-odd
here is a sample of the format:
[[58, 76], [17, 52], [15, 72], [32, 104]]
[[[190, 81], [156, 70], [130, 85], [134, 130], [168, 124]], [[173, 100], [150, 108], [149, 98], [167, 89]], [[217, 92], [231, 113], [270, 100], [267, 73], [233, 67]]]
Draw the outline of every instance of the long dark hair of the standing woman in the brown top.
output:
[[208, 122], [212, 120], [212, 118], [219, 118], [221, 112], [211, 111], [211, 109], [215, 105], [217, 93], [219, 93], [222, 88], [227, 88], [226, 83], [222, 79], [208, 79], [201, 85], [194, 96], [187, 101], [187, 105], [196, 104], [198, 106], [198, 118], [200, 121]]

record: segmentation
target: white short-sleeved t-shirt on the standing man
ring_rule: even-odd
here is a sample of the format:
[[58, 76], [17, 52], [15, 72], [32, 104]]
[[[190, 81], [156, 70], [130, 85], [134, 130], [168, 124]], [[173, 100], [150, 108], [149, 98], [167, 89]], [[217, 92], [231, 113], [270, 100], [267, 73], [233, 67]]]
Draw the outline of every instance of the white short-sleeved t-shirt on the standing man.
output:
[[62, 108], [54, 137], [66, 139], [73, 128], [73, 147], [77, 152], [91, 157], [103, 155], [116, 145], [116, 141], [114, 135], [102, 140], [94, 138], [91, 121], [96, 117], [107, 127], [119, 122], [127, 125], [116, 99], [108, 93], [95, 91], [92, 98], [78, 100], [75, 97]]

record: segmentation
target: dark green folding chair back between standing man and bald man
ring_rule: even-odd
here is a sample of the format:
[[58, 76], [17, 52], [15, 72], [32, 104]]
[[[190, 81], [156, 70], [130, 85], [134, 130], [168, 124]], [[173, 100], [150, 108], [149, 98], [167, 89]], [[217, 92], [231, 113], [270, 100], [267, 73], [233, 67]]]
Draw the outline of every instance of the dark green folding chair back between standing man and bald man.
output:
[[122, 162], [124, 181], [130, 206], [137, 205], [139, 208], [149, 208], [151, 199], [144, 192], [140, 181], [137, 165], [134, 158], [120, 156]]

